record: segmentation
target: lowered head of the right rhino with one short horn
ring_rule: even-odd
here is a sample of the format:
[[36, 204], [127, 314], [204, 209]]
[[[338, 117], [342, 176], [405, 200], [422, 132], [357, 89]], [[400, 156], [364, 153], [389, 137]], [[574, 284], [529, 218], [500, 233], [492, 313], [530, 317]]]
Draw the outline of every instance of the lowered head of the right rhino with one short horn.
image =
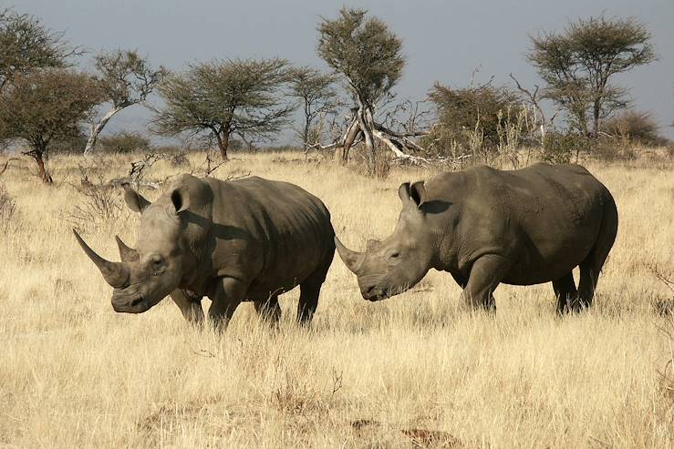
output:
[[365, 252], [347, 249], [335, 237], [339, 257], [358, 276], [363, 298], [379, 301], [407, 291], [432, 265], [438, 242], [421, 208], [426, 195], [423, 181], [402, 184], [398, 190], [402, 210], [389, 238], [368, 240]]

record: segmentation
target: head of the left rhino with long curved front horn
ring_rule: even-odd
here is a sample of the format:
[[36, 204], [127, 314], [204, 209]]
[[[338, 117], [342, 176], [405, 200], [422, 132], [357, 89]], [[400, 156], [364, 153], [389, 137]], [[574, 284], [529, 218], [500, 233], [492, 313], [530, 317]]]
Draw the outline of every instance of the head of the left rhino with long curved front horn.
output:
[[190, 205], [186, 189], [173, 189], [154, 204], [134, 189], [127, 188], [124, 199], [131, 210], [141, 214], [136, 249], [115, 236], [120, 262], [100, 257], [75, 232], [88, 258], [99, 268], [103, 279], [114, 289], [112, 308], [142, 313], [178, 288], [186, 269], [188, 245], [181, 240], [181, 213]]

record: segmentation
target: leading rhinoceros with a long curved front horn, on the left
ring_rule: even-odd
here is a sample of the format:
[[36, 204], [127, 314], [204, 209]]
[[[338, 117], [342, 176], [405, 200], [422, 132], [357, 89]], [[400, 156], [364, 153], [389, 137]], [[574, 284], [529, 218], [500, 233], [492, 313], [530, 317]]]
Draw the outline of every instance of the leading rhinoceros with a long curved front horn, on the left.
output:
[[188, 321], [202, 321], [207, 296], [217, 325], [242, 301], [277, 321], [278, 295], [299, 285], [297, 320], [311, 320], [335, 253], [320, 199], [286, 182], [191, 175], [174, 179], [154, 203], [133, 189], [124, 199], [141, 215], [135, 249], [116, 237], [121, 262], [102, 259], [75, 232], [114, 288], [115, 311], [147, 311], [170, 294]]

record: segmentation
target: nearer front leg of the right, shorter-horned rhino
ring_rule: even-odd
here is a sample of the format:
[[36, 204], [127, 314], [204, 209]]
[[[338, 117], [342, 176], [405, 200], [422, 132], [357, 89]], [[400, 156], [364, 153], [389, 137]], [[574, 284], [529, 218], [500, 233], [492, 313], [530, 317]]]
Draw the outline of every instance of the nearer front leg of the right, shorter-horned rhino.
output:
[[461, 293], [463, 301], [474, 309], [496, 310], [493, 291], [496, 290], [510, 264], [501, 256], [487, 254], [472, 264], [468, 283]]

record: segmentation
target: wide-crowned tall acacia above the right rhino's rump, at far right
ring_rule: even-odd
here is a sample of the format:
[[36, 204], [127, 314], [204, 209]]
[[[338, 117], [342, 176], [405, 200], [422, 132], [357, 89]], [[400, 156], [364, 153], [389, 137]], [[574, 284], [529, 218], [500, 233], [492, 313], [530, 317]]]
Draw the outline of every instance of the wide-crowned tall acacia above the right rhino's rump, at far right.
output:
[[579, 19], [563, 33], [532, 36], [527, 57], [547, 84], [544, 96], [565, 109], [575, 128], [596, 138], [601, 120], [627, 106], [627, 89], [611, 84], [611, 77], [656, 58], [650, 37], [636, 19], [602, 15]]

